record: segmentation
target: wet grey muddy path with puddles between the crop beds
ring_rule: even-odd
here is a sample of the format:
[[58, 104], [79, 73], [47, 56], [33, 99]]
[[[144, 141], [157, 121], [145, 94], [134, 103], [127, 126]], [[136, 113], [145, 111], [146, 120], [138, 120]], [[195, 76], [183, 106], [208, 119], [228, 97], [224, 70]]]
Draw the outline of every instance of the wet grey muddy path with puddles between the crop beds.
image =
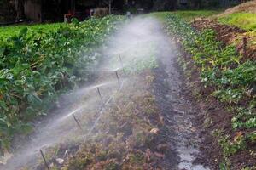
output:
[[197, 112], [183, 95], [185, 85], [177, 64], [177, 48], [169, 38], [163, 38], [162, 42], [158, 55], [160, 67], [155, 70], [154, 94], [166, 122], [163, 135], [167, 136], [173, 151], [166, 161], [172, 163], [169, 169], [207, 170], [209, 168], [204, 167], [207, 161], [199, 151], [199, 132], [192, 123]]

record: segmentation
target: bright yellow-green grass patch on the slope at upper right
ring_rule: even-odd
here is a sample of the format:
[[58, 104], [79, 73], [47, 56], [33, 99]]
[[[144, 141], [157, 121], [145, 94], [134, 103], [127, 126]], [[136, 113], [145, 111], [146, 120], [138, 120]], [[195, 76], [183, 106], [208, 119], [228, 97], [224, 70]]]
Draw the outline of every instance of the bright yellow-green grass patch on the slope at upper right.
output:
[[256, 14], [234, 13], [222, 16], [218, 19], [222, 24], [238, 26], [247, 31], [256, 31]]

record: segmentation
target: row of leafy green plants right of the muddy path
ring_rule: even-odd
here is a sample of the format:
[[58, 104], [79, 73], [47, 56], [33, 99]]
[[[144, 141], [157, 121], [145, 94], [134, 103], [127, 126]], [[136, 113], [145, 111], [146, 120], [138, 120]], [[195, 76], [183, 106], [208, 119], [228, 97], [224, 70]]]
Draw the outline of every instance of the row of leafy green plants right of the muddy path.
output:
[[177, 37], [185, 51], [191, 54], [205, 88], [213, 88], [212, 95], [234, 113], [234, 135], [216, 133], [224, 159], [228, 161], [248, 144], [256, 143], [256, 62], [241, 62], [242, 57], [236, 53], [236, 48], [224, 47], [222, 42], [216, 41], [212, 30], [197, 32], [173, 15], [167, 16], [165, 21], [167, 32]]

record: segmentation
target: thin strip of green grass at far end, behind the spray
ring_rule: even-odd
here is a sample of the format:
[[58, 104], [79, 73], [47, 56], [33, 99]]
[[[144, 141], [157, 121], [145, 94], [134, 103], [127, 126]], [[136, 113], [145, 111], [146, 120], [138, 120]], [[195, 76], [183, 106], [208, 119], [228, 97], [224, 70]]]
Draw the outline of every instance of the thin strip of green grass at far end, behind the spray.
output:
[[191, 21], [194, 18], [198, 17], [209, 17], [215, 14], [220, 13], [220, 10], [177, 10], [174, 12], [156, 12], [149, 15], [155, 16], [160, 20], [166, 18], [168, 14], [175, 14], [178, 17], [181, 17], [183, 20]]

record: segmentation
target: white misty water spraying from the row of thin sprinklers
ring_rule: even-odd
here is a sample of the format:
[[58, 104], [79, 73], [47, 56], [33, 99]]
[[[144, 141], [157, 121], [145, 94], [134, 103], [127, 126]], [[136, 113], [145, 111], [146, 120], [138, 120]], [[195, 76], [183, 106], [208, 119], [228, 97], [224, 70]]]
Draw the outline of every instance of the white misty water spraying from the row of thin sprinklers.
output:
[[[131, 20], [109, 37], [107, 47], [102, 52], [105, 54], [104, 62], [97, 68], [99, 78], [96, 84], [68, 94], [67, 100], [71, 100], [69, 105], [49, 114], [52, 117], [37, 126], [32, 138], [17, 147], [15, 156], [1, 169], [16, 170], [24, 166], [35, 169], [38, 160], [42, 160], [40, 150], [62, 143], [83, 143], [96, 128], [105, 109], [111, 105], [113, 94], [122, 90], [126, 81], [125, 71], [147, 68], [144, 61], [155, 59], [160, 53], [167, 58], [174, 51], [162, 32], [160, 23], [152, 18]], [[180, 150], [183, 147], [185, 146], [180, 145], [179, 150], [177, 149], [180, 156], [191, 156], [198, 151], [193, 150], [188, 155]], [[187, 169], [193, 169], [192, 161], [194, 158], [186, 160], [191, 164], [191, 168], [186, 167]], [[181, 164], [179, 169], [183, 168]]]

